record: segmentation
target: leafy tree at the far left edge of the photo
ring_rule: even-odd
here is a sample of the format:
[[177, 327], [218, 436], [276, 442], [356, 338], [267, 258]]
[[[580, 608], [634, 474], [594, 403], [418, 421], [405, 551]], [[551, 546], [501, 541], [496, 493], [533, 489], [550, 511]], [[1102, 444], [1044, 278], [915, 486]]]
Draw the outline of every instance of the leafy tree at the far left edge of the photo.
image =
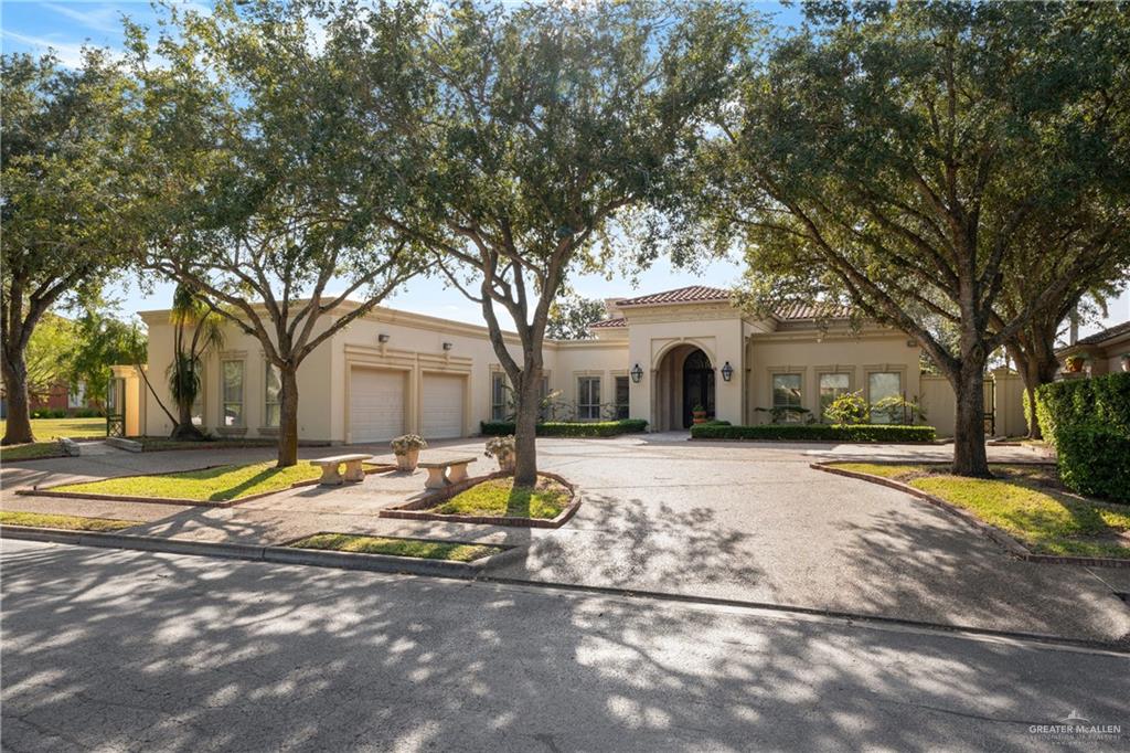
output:
[[97, 292], [140, 243], [125, 149], [132, 98], [95, 50], [78, 70], [51, 57], [3, 55], [0, 149], [2, 444], [34, 441], [26, 352], [52, 308]]

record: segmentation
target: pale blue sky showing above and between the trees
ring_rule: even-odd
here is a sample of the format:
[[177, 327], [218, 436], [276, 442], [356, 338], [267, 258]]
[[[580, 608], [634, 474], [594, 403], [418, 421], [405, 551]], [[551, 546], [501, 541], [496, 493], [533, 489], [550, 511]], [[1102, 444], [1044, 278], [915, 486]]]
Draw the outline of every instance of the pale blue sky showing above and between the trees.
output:
[[[206, 6], [207, 0], [193, 3]], [[776, 3], [754, 3], [766, 12], [776, 14], [779, 24], [791, 24], [797, 18], [796, 8], [782, 8]], [[153, 9], [148, 2], [0, 2], [0, 28], [5, 52], [45, 52], [49, 47], [64, 63], [79, 59], [79, 50], [85, 42], [120, 49], [122, 45], [121, 17], [130, 16], [142, 25], [151, 25]], [[634, 292], [657, 292], [684, 285], [714, 285], [728, 287], [741, 275], [737, 260], [719, 260], [695, 271], [673, 269], [660, 260], [653, 267], [638, 271], [635, 279], [612, 272], [585, 275], [571, 280], [581, 295], [607, 298]], [[120, 312], [129, 317], [146, 309], [164, 309], [172, 297], [172, 286], [156, 284], [149, 293], [141, 291], [136, 280], [127, 280], [115, 286], [112, 296], [120, 301]], [[415, 311], [459, 321], [483, 323], [478, 305], [461, 293], [446, 288], [440, 279], [421, 278], [409, 283], [389, 302], [398, 309]], [[1098, 326], [1130, 319], [1130, 293], [1112, 302], [1111, 315]]]

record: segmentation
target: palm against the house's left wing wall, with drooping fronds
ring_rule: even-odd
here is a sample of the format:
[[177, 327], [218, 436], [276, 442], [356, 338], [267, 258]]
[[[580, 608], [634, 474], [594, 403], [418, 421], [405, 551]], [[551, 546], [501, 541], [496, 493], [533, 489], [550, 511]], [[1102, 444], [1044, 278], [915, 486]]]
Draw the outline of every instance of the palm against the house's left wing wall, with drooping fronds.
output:
[[172, 439], [201, 441], [206, 439], [192, 423], [192, 406], [200, 396], [200, 378], [205, 354], [224, 343], [223, 318], [211, 303], [191, 288], [177, 285], [173, 293], [173, 362], [168, 365], [168, 390], [176, 404], [176, 424]]

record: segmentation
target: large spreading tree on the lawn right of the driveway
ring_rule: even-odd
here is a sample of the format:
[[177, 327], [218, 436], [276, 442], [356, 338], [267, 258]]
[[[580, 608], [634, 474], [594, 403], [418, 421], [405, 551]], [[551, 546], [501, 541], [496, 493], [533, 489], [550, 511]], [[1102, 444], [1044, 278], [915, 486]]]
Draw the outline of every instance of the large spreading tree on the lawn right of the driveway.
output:
[[[1105, 271], [1083, 239], [1124, 240], [1102, 201], [1083, 252], [1032, 228], [1093, 194], [1124, 197], [1128, 25], [1111, 5], [809, 7], [724, 138], [704, 213], [749, 243], [762, 308], [851, 301], [913, 336], [957, 397], [954, 471], [989, 475], [982, 387], [993, 350]], [[1106, 219], [1104, 218], [1105, 223]], [[1009, 275], [1033, 276], [1001, 305]], [[955, 337], [938, 336], [939, 322]]]

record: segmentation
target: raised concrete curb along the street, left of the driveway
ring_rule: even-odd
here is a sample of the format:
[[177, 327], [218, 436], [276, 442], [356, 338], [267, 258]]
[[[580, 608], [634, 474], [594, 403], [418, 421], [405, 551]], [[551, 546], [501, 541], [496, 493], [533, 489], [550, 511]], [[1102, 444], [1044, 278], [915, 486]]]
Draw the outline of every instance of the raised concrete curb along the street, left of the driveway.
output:
[[[165, 552], [167, 554], [190, 554], [227, 560], [298, 564], [337, 570], [366, 570], [371, 572], [407, 573], [440, 578], [475, 579], [488, 568], [511, 560], [523, 551], [522, 546], [505, 551], [475, 562], [445, 562], [398, 557], [388, 554], [355, 554], [320, 549], [298, 549], [287, 546], [261, 546], [258, 544], [224, 544], [218, 542], [192, 542], [159, 536], [131, 536], [129, 534], [88, 530], [63, 530], [58, 528], [32, 528], [29, 526], [0, 526], [0, 538], [15, 538], [51, 544], [72, 544], [139, 552]], [[438, 540], [438, 539], [437, 539]], [[502, 545], [493, 545], [502, 546]]]

